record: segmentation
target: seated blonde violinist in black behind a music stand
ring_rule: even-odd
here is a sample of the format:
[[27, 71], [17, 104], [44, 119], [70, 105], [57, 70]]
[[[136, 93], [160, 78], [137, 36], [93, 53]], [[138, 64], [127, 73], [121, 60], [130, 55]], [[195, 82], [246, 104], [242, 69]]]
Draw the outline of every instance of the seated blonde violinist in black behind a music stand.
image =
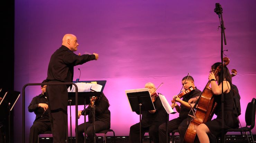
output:
[[[158, 126], [165, 122], [166, 111], [155, 92], [155, 85], [153, 83], [146, 83], [145, 88], [148, 88], [156, 110], [141, 111], [141, 136], [143, 137], [145, 131], [148, 130], [150, 140], [158, 143]], [[139, 111], [136, 111], [136, 113], [139, 114]], [[139, 143], [139, 138], [139, 123], [137, 123], [130, 127], [129, 143]]]

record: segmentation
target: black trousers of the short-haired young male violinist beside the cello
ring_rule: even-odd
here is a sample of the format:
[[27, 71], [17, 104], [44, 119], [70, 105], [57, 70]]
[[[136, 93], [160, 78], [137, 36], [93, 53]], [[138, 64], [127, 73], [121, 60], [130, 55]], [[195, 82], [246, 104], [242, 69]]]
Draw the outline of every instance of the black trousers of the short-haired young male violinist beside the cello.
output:
[[[173, 130], [178, 129], [180, 134], [181, 143], [184, 142], [184, 136], [186, 130], [188, 129], [191, 118], [181, 119], [176, 118], [167, 122], [167, 131], [168, 131], [168, 143], [170, 143], [170, 133]], [[166, 143], [166, 130], [165, 123], [159, 126], [159, 143]]]

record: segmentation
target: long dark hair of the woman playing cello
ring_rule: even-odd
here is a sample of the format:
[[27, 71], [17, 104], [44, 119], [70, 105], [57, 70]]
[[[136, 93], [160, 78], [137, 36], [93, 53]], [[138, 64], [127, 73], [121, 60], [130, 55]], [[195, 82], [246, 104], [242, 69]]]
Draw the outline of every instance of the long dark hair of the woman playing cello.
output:
[[[216, 70], [218, 66], [221, 66], [220, 62], [213, 64], [211, 68], [213, 70]], [[220, 79], [220, 77], [221, 77], [220, 72], [218, 72], [218, 76], [219, 76], [218, 85], [220, 85], [220, 83], [222, 83], [222, 81]], [[223, 79], [226, 79], [229, 82], [230, 86], [232, 86], [232, 78], [231, 78], [231, 74], [230, 74], [227, 66], [223, 66]]]

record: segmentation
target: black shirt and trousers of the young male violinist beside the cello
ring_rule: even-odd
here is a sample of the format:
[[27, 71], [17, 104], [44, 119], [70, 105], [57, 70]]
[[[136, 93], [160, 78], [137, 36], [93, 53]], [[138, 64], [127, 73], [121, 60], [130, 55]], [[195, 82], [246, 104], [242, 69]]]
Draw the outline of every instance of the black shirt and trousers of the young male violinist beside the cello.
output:
[[[201, 95], [201, 93], [202, 92], [196, 88], [195, 90], [191, 91], [188, 95], [185, 95], [182, 98], [182, 100], [185, 102], [188, 102], [189, 99], [191, 99], [191, 98], [199, 97]], [[181, 110], [180, 110], [179, 117], [167, 122], [168, 142], [170, 142], [169, 141], [170, 133], [172, 133], [173, 130], [178, 129], [179, 134], [180, 134], [181, 143], [183, 143], [183, 139], [184, 139], [186, 130], [188, 129], [189, 123], [191, 121], [191, 117], [189, 117], [188, 114], [192, 115], [193, 113], [192, 112], [190, 113], [190, 109], [182, 106], [182, 104], [181, 104]], [[165, 123], [163, 123], [159, 126], [159, 143], [166, 143]]]

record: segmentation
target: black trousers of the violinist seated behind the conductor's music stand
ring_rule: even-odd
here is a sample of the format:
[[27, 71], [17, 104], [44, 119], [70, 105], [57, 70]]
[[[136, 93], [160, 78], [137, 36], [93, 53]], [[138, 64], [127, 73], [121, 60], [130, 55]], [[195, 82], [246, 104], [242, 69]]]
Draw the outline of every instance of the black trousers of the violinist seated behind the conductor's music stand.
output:
[[[110, 125], [106, 124], [103, 121], [95, 121], [95, 133], [102, 131], [102, 130], [107, 130], [110, 129]], [[78, 125], [78, 133], [77, 133], [77, 142], [78, 143], [84, 143], [84, 123]], [[88, 136], [88, 139], [90, 140], [89, 143], [94, 142], [94, 135], [93, 135], [93, 126], [92, 123], [86, 122], [86, 134]], [[97, 136], [95, 135], [96, 142], [97, 141]]]

